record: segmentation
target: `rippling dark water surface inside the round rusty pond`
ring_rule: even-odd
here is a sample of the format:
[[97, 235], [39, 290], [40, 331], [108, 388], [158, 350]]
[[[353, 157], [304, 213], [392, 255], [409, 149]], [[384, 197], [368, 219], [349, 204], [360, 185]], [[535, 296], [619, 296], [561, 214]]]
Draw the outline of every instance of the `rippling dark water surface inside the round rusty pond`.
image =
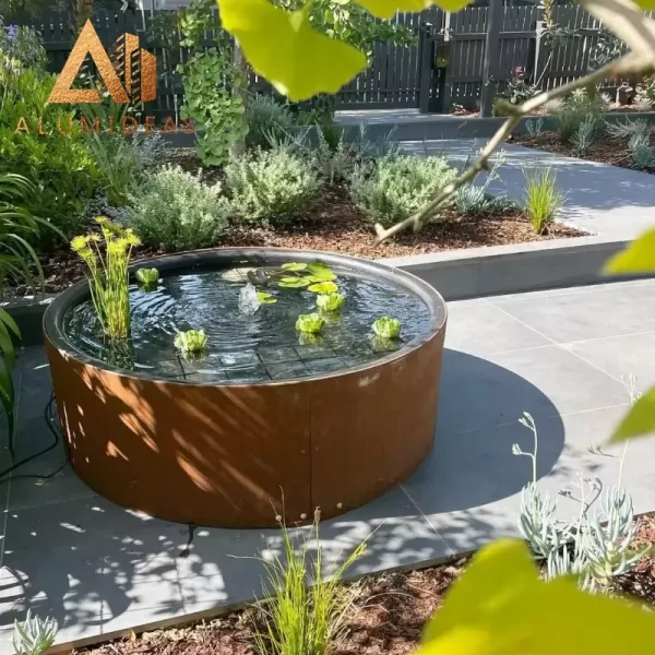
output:
[[[171, 275], [155, 290], [130, 288], [131, 340], [121, 349], [108, 348], [100, 335], [91, 300], [64, 317], [68, 340], [82, 353], [121, 368], [189, 382], [252, 383], [290, 380], [343, 371], [389, 355], [429, 330], [430, 311], [410, 291], [334, 269], [345, 297], [342, 309], [323, 314], [325, 325], [318, 338], [296, 329], [300, 313], [315, 309], [315, 294], [306, 289], [260, 287], [277, 302], [262, 305], [254, 315], [239, 309], [245, 278], [225, 279], [226, 270]], [[371, 324], [380, 317], [402, 323], [401, 340], [382, 344], [373, 340]], [[204, 330], [209, 348], [204, 357], [186, 359], [176, 350], [177, 332]]]

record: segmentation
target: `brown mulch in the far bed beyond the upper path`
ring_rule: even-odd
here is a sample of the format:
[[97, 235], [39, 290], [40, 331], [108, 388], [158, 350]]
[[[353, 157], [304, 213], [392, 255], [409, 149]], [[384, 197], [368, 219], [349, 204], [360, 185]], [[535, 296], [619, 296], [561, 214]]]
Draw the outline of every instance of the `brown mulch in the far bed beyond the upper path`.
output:
[[[651, 142], [653, 142], [652, 129], [650, 130], [650, 134]], [[525, 147], [534, 147], [549, 153], [565, 155], [567, 157], [584, 159], [586, 162], [598, 162], [599, 164], [631, 168], [628, 138], [612, 136], [611, 134], [604, 133], [592, 143], [584, 156], [576, 153], [575, 148], [570, 143], [560, 143], [557, 132], [543, 132], [539, 136], [514, 134], [511, 142], [517, 145], [524, 145]], [[655, 172], [655, 168], [646, 168], [643, 172]]]

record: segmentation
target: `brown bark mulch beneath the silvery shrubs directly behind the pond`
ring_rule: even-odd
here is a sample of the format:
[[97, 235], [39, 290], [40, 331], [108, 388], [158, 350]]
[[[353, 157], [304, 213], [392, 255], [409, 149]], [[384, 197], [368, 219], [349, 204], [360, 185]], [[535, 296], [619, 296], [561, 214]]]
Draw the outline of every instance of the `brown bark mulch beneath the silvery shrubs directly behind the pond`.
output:
[[[374, 246], [374, 230], [370, 221], [353, 204], [345, 189], [332, 187], [323, 189], [287, 226], [231, 229], [217, 246], [297, 248], [381, 259], [479, 246], [580, 237], [584, 234], [556, 224], [548, 234], [536, 235], [521, 210], [474, 217], [464, 216], [456, 210], [445, 210], [438, 223], [429, 223], [417, 233], [408, 230], [380, 246]], [[134, 259], [139, 261], [154, 254], [157, 253], [139, 248]], [[66, 247], [45, 258], [41, 263], [46, 293], [60, 293], [75, 282], [84, 279], [83, 262]], [[14, 293], [24, 295], [28, 289], [16, 288]]]

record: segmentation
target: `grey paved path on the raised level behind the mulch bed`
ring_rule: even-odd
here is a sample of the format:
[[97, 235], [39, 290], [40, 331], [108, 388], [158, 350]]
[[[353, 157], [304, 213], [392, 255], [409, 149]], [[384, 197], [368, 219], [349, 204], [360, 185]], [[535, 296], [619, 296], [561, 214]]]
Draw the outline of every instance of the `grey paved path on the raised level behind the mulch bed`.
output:
[[[403, 142], [406, 152], [443, 155], [463, 166], [486, 143], [484, 139]], [[550, 168], [567, 199], [560, 219], [591, 234], [633, 239], [653, 225], [655, 176], [596, 162], [565, 157], [520, 145], [504, 144], [505, 163], [490, 192], [525, 199], [525, 174]], [[480, 180], [484, 177], [479, 178]]]

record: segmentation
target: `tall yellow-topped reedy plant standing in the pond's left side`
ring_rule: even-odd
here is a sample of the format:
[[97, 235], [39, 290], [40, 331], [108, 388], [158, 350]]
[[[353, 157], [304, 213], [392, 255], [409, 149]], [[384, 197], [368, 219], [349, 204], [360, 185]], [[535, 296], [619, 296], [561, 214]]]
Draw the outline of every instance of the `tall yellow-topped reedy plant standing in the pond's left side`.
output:
[[75, 237], [71, 248], [86, 263], [88, 288], [105, 335], [121, 341], [130, 335], [130, 291], [128, 266], [132, 249], [141, 241], [134, 233], [104, 216], [96, 218], [102, 236]]

